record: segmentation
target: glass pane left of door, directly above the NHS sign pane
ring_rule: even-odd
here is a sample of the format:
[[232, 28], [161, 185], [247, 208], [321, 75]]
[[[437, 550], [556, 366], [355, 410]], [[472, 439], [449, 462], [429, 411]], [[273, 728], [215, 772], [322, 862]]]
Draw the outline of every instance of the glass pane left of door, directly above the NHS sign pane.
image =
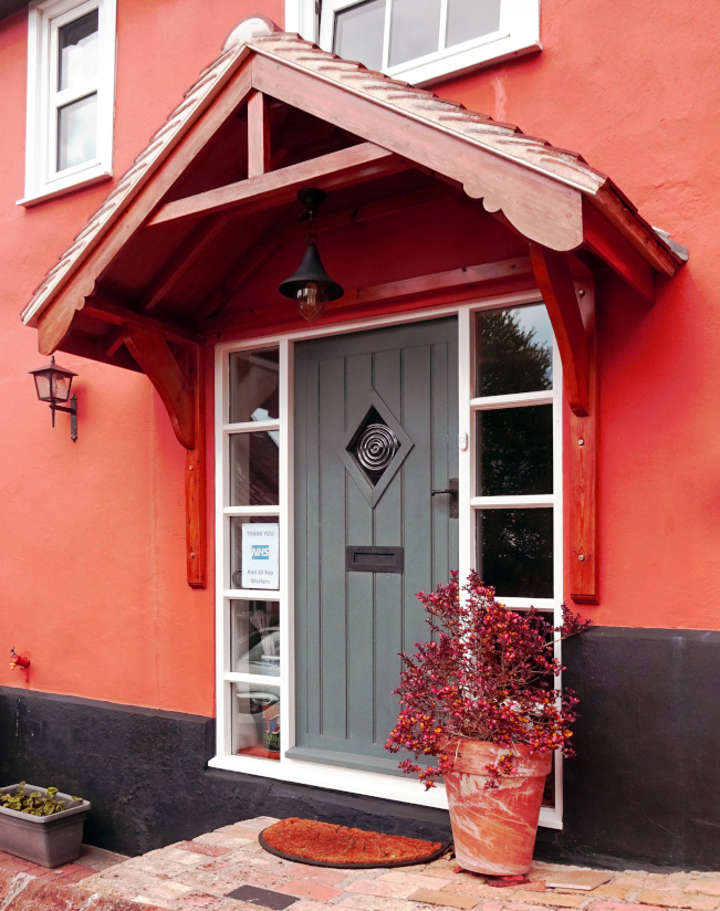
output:
[[230, 505], [276, 506], [278, 430], [230, 437]]

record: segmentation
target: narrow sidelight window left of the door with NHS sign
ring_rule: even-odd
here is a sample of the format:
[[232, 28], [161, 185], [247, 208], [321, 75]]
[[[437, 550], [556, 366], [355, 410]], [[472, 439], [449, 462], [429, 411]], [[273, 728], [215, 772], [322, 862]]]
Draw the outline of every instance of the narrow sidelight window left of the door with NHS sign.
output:
[[234, 352], [222, 405], [222, 689], [229, 751], [280, 761], [280, 353]]

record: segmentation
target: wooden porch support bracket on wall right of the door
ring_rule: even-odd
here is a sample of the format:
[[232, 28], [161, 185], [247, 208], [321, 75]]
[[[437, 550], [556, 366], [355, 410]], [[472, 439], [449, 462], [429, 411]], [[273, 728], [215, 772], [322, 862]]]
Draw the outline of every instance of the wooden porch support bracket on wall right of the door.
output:
[[584, 296], [581, 310], [565, 253], [531, 242], [530, 260], [555, 333], [571, 410], [567, 457], [570, 593], [578, 604], [598, 604], [598, 383], [594, 295]]

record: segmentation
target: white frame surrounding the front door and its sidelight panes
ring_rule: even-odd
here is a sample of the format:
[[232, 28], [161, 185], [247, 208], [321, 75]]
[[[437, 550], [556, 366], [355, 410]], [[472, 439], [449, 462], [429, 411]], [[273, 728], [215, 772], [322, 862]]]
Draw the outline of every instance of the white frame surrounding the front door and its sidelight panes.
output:
[[[589, 289], [587, 289], [589, 292]], [[376, 772], [342, 768], [338, 766], [307, 763], [285, 755], [295, 744], [294, 719], [294, 640], [293, 640], [293, 591], [294, 591], [294, 536], [293, 536], [293, 345], [306, 338], [330, 337], [361, 329], [380, 328], [401, 323], [420, 322], [441, 316], [457, 316], [459, 342], [459, 499], [460, 499], [460, 578], [466, 578], [474, 567], [476, 534], [474, 511], [483, 505], [473, 498], [474, 493], [474, 412], [487, 407], [489, 400], [473, 398], [474, 387], [474, 318], [486, 310], [515, 307], [542, 303], [538, 291], [508, 294], [482, 302], [415, 311], [411, 314], [390, 315], [382, 318], [356, 320], [342, 325], [307, 328], [284, 335], [263, 336], [242, 342], [223, 342], [216, 346], [215, 402], [216, 402], [216, 684], [217, 684], [217, 753], [208, 763], [212, 768], [240, 772], [248, 775], [274, 778], [276, 781], [311, 785], [351, 794], [378, 797], [425, 807], [447, 809], [447, 794], [444, 784], [424, 790], [416, 778], [384, 775]], [[229, 358], [234, 352], [279, 348], [280, 350], [280, 409], [279, 419], [273, 421], [232, 425], [229, 416]], [[532, 498], [535, 505], [554, 506], [554, 598], [502, 598], [508, 606], [526, 608], [531, 603], [539, 609], [552, 612], [555, 625], [562, 622], [563, 600], [563, 456], [562, 456], [562, 366], [557, 346], [553, 343], [553, 390], [529, 394], [532, 404], [553, 405], [553, 456], [554, 493]], [[498, 399], [505, 397], [498, 397]], [[508, 397], [510, 398], [510, 397]], [[516, 404], [528, 402], [528, 395], [514, 396]], [[536, 400], [536, 401], [535, 401]], [[503, 402], [497, 402], [500, 407]], [[236, 432], [259, 430], [280, 431], [280, 505], [274, 506], [229, 506], [229, 440]], [[463, 448], [465, 446], [465, 448]], [[524, 499], [524, 498], [523, 498]], [[498, 504], [499, 505], [499, 504]], [[230, 589], [230, 534], [232, 515], [279, 516], [280, 522], [280, 589], [278, 591], [250, 591]], [[272, 521], [272, 519], [270, 519]], [[278, 600], [280, 603], [280, 677], [267, 674], [237, 673], [231, 671], [231, 617], [233, 600]], [[560, 643], [556, 646], [560, 658]], [[231, 684], [247, 683], [258, 687], [280, 688], [280, 760], [232, 755], [231, 731]], [[560, 685], [560, 684], [559, 684]], [[540, 825], [552, 829], [563, 827], [562, 757], [556, 754], [555, 806], [542, 807]]]

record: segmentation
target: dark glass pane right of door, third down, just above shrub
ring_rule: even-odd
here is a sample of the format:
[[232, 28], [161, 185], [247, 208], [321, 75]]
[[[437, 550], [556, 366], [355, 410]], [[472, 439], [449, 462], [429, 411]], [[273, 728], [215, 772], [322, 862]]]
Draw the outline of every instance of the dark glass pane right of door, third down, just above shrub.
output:
[[553, 597], [553, 510], [480, 510], [478, 573], [498, 598]]

